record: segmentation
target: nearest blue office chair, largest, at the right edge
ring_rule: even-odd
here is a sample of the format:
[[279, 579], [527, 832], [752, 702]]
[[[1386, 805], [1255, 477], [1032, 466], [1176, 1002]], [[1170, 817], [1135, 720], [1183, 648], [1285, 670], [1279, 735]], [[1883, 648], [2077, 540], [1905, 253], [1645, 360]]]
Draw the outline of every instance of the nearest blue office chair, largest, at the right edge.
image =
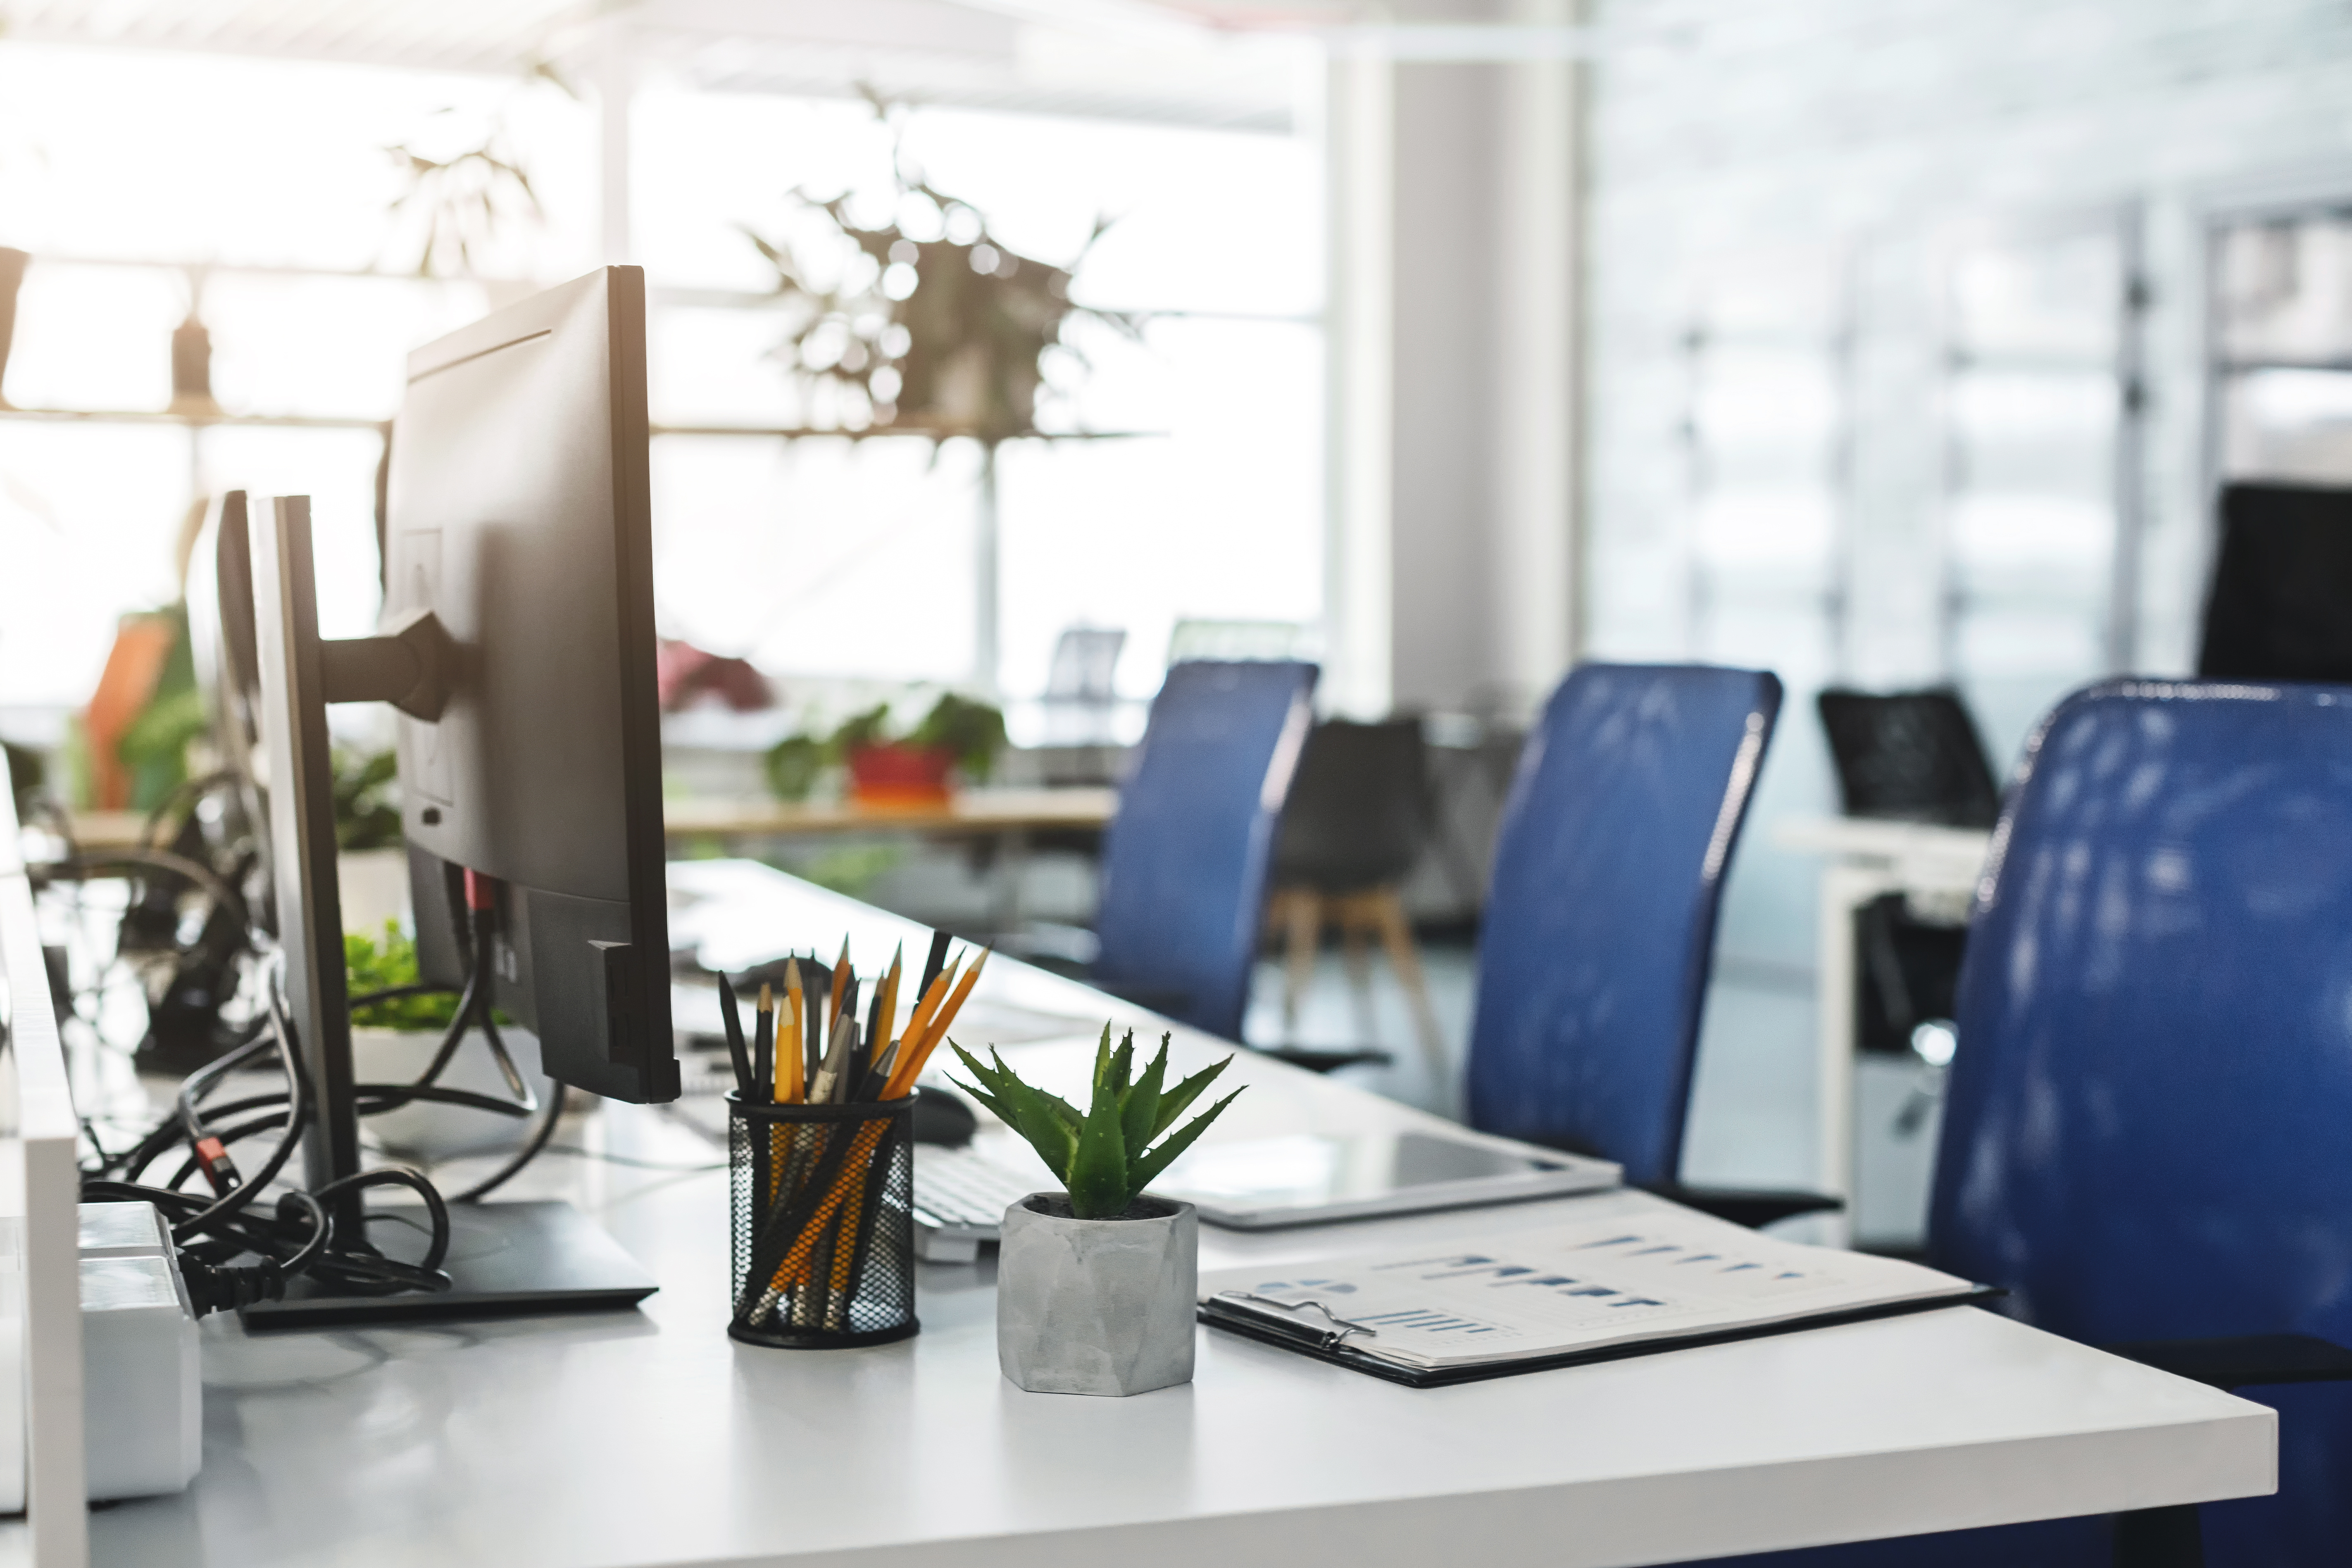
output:
[[[1929, 1211], [2009, 1309], [2279, 1408], [2279, 1495], [2124, 1563], [2352, 1561], [2352, 689], [2110, 682], [2027, 745], [1969, 936]], [[1736, 1559], [2110, 1561], [2103, 1521]]]

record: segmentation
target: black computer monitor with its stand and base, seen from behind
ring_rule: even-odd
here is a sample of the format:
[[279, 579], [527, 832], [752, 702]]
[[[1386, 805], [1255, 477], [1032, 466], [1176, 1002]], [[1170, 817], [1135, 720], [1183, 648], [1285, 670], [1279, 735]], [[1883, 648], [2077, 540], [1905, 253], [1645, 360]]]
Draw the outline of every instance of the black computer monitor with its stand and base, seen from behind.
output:
[[[607, 268], [419, 348], [390, 435], [379, 635], [318, 635], [310, 505], [249, 508], [261, 771], [306, 1187], [343, 1246], [423, 1253], [362, 1206], [327, 705], [400, 717], [419, 959], [536, 1027], [548, 1077], [677, 1098], [654, 693], [644, 273]], [[487, 919], [485, 919], [487, 917]], [[480, 1004], [480, 999], [475, 999]], [[553, 1128], [543, 1112], [543, 1128]], [[536, 1145], [529, 1145], [536, 1147]], [[433, 1267], [419, 1258], [400, 1258]], [[564, 1204], [454, 1204], [452, 1288], [299, 1276], [247, 1324], [626, 1305], [654, 1284]]]

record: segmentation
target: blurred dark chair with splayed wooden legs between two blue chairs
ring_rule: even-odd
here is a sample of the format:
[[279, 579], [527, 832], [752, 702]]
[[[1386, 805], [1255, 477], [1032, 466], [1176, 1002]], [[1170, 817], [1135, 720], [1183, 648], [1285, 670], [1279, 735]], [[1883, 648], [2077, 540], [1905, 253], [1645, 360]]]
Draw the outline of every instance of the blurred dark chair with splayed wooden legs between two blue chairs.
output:
[[[1284, 931], [1289, 952], [1282, 985], [1282, 1027], [1298, 1030], [1298, 997], [1315, 973], [1324, 924], [1336, 924], [1357, 1001], [1357, 1030], [1371, 1039], [1371, 959], [1378, 940], [1414, 1006], [1414, 1027], [1430, 1067], [1444, 1072], [1444, 1034], [1430, 1006], [1414, 929], [1399, 896], [1404, 875], [1430, 837], [1428, 743], [1421, 719], [1352, 724], [1329, 719], [1308, 736], [1291, 799], [1275, 835], [1275, 893], [1265, 919]], [[1388, 1063], [1388, 1051], [1279, 1048], [1315, 1070]]]

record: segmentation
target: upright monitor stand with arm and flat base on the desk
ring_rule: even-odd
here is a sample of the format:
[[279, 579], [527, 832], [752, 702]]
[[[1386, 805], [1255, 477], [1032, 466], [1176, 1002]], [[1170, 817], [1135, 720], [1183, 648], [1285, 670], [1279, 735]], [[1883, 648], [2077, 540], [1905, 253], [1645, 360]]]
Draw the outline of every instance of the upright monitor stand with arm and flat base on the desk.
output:
[[[261, 675], [261, 755], [268, 762], [270, 884], [294, 1020], [315, 1112], [303, 1131], [303, 1185], [360, 1171], [360, 1114], [350, 1077], [350, 992], [343, 985], [343, 900], [336, 886], [334, 771], [327, 703], [393, 703], [440, 717], [449, 668], [440, 625], [412, 616], [395, 635], [322, 642], [310, 557], [310, 498], [278, 496], [247, 512], [254, 581], [254, 651]], [[329, 1206], [346, 1246], [374, 1244], [419, 1260], [426, 1237], [376, 1222], [350, 1192]], [[414, 1211], [421, 1215], [423, 1211]], [[332, 1295], [294, 1279], [280, 1302], [245, 1309], [254, 1326], [390, 1324], [586, 1307], [630, 1307], [654, 1281], [569, 1204], [452, 1204], [452, 1291]]]

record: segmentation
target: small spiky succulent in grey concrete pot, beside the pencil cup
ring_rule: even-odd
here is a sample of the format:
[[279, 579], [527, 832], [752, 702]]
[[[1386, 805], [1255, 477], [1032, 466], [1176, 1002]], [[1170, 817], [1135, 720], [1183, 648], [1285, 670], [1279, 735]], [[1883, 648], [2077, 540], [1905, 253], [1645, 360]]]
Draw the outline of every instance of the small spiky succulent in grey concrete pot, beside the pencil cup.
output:
[[[1167, 1086], [1169, 1039], [1134, 1074], [1136, 1034], [1094, 1051], [1087, 1114], [955, 1046], [974, 1084], [957, 1084], [1028, 1138], [1063, 1192], [1004, 1211], [997, 1251], [997, 1366], [1030, 1394], [1148, 1394], [1192, 1380], [1200, 1218], [1143, 1190], [1192, 1147], [1230, 1095], [1169, 1133], [1232, 1058]], [[1152, 1145], [1152, 1140], [1160, 1140]]]

